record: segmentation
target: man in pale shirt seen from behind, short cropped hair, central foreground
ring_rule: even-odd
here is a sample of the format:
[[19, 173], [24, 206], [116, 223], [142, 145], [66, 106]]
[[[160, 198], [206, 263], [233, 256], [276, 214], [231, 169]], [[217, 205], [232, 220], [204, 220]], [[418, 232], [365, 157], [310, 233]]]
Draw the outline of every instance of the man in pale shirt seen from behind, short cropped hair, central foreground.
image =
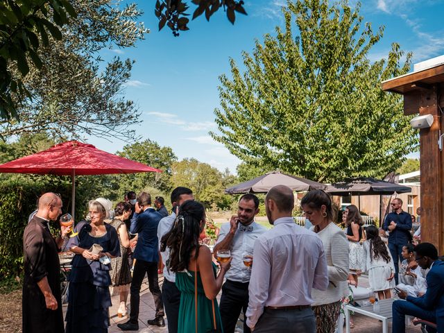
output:
[[254, 332], [316, 332], [311, 288], [328, 287], [321, 239], [294, 223], [293, 191], [273, 187], [265, 197], [274, 228], [255, 241], [247, 325]]

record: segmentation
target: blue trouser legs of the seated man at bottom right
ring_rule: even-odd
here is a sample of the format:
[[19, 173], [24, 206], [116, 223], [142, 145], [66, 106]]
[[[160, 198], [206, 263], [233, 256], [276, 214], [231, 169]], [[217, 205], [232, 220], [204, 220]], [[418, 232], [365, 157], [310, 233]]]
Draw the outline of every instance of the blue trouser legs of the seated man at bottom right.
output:
[[405, 332], [405, 316], [413, 316], [436, 323], [436, 311], [425, 310], [407, 300], [395, 300], [391, 307], [393, 312], [393, 333]]

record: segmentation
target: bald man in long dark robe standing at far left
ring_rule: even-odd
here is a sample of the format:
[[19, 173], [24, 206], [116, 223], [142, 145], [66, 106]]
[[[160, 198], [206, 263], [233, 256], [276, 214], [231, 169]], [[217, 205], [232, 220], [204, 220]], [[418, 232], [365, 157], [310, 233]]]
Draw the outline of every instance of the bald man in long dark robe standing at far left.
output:
[[24, 230], [23, 333], [65, 332], [58, 251], [69, 227], [61, 227], [56, 239], [49, 232], [49, 221], [56, 221], [61, 212], [62, 199], [46, 193]]

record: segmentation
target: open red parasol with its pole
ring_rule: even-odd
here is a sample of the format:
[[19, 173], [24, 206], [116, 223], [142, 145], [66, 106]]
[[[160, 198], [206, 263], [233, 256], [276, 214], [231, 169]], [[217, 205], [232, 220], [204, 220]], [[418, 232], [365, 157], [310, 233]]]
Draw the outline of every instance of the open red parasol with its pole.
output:
[[71, 176], [73, 202], [71, 215], [74, 217], [76, 176], [162, 171], [107, 153], [106, 151], [101, 151], [92, 144], [69, 141], [56, 144], [56, 146], [46, 149], [46, 151], [40, 151], [33, 155], [0, 164], [0, 172]]

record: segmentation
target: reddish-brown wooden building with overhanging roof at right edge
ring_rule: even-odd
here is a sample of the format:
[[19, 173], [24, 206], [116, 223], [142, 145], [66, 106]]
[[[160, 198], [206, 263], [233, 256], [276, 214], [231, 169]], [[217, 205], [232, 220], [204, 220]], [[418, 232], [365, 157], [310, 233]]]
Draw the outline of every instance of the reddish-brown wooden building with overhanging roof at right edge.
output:
[[386, 92], [404, 96], [404, 114], [432, 114], [429, 128], [420, 129], [421, 240], [444, 253], [444, 174], [442, 134], [444, 133], [444, 56], [421, 62], [413, 72], [386, 80]]

